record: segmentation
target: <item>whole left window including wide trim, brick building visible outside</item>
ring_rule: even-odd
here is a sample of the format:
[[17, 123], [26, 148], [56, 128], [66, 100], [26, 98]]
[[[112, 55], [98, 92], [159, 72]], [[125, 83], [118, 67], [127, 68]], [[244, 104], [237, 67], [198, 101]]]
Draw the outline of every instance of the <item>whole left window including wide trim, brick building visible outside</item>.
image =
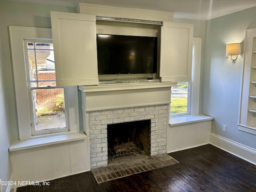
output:
[[56, 86], [52, 30], [9, 31], [20, 140], [80, 132], [78, 87]]

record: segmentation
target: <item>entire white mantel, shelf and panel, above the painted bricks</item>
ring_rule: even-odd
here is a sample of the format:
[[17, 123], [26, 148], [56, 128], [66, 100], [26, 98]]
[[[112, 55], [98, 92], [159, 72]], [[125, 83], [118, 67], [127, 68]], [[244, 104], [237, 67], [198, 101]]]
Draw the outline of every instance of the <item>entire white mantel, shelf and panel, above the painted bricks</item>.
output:
[[118, 83], [83, 86], [86, 112], [170, 103], [177, 82]]

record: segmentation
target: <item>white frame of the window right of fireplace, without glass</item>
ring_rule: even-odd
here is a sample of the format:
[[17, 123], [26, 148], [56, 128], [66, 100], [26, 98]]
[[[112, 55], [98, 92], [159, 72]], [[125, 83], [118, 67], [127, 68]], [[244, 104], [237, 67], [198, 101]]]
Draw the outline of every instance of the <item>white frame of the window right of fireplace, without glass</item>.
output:
[[200, 114], [201, 46], [202, 46], [202, 38], [193, 37], [192, 78], [191, 78], [191, 81], [183, 81], [183, 82], [190, 82], [189, 96], [188, 96], [189, 112], [173, 114], [173, 115], [170, 112], [170, 118], [178, 118], [183, 116]]

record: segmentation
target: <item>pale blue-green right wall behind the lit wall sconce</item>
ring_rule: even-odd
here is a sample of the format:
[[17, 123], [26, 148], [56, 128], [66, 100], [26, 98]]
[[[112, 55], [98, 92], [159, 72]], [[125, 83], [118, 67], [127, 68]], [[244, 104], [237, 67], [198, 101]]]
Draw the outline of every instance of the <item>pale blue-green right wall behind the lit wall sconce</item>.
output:
[[[256, 135], [238, 130], [243, 54], [236, 63], [226, 57], [226, 44], [243, 42], [256, 27], [256, 7], [208, 20], [204, 45], [202, 113], [212, 116], [212, 133], [256, 149]], [[227, 131], [222, 131], [222, 125]]]

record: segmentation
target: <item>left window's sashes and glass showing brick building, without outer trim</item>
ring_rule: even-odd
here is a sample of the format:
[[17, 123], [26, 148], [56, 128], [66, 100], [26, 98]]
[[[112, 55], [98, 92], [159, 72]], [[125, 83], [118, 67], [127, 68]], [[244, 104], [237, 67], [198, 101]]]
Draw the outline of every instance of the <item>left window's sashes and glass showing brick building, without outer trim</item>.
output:
[[51, 41], [24, 40], [32, 135], [67, 131], [66, 87], [56, 87]]

